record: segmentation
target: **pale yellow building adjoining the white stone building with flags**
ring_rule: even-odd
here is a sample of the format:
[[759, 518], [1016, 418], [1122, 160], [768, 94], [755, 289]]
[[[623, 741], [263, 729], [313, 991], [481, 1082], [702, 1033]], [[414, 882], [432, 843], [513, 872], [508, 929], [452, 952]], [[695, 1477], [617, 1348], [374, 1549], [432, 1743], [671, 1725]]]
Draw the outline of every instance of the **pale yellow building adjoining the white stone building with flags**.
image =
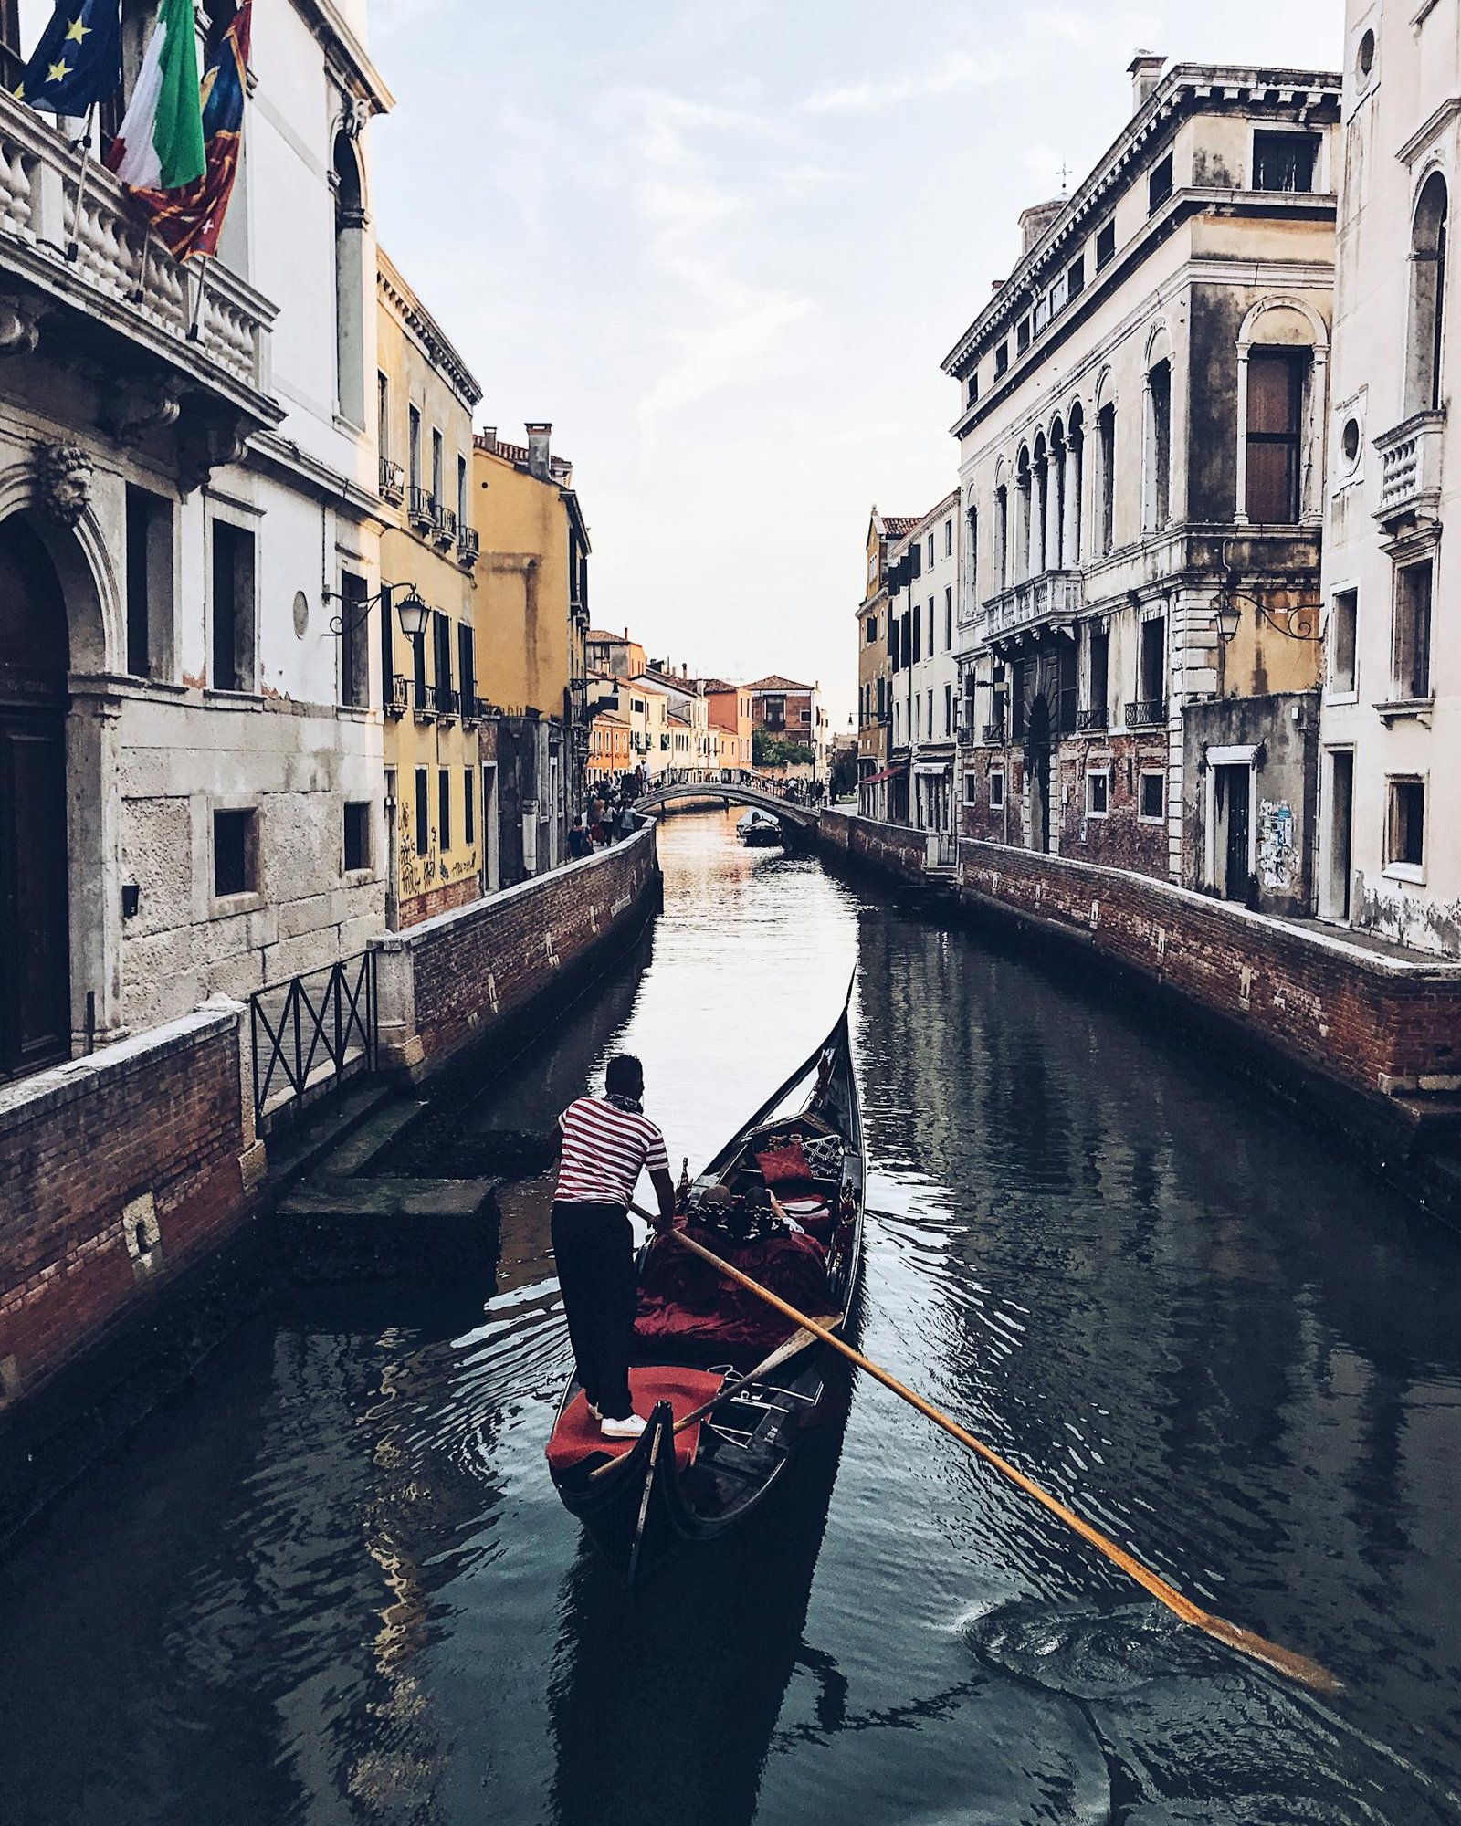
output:
[[393, 612], [380, 615], [385, 918], [398, 929], [495, 886], [493, 844], [484, 842], [495, 756], [477, 696], [469, 515], [471, 415], [482, 389], [385, 254], [376, 261], [376, 305], [384, 606], [394, 608], [409, 586], [431, 608], [415, 641]]

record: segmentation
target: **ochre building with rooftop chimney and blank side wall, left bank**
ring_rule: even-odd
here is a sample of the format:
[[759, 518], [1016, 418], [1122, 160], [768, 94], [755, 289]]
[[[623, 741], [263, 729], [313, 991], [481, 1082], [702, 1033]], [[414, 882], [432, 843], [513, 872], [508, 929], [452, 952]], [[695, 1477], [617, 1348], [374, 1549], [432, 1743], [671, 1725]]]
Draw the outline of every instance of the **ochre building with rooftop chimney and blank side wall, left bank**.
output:
[[568, 856], [588, 760], [584, 637], [588, 528], [573, 466], [488, 427], [475, 440], [471, 524], [482, 546], [478, 687], [497, 714], [497, 831], [502, 882]]

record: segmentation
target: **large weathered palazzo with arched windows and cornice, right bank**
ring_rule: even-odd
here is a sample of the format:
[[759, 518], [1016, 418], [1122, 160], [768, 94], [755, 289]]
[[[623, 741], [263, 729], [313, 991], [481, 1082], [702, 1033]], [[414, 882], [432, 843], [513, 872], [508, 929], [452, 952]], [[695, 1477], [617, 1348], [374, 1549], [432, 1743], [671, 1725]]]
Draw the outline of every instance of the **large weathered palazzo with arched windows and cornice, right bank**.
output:
[[964, 829], [1306, 911], [1339, 79], [1161, 68], [944, 360]]

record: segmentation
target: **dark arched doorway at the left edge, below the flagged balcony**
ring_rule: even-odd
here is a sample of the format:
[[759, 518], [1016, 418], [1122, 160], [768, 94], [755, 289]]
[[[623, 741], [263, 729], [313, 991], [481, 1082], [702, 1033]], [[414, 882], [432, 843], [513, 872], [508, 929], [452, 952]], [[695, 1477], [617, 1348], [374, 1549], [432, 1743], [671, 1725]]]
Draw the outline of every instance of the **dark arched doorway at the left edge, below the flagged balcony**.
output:
[[24, 515], [0, 522], [0, 1081], [71, 1050], [66, 599]]

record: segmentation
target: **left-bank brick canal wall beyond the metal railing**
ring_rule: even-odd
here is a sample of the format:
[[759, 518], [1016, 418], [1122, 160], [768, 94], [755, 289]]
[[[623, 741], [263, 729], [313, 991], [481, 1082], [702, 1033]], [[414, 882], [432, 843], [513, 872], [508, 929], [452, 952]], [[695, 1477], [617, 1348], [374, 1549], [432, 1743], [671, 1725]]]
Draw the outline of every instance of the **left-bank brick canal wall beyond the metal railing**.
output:
[[641, 908], [654, 825], [583, 862], [376, 940], [382, 1063], [426, 1076], [586, 957]]

